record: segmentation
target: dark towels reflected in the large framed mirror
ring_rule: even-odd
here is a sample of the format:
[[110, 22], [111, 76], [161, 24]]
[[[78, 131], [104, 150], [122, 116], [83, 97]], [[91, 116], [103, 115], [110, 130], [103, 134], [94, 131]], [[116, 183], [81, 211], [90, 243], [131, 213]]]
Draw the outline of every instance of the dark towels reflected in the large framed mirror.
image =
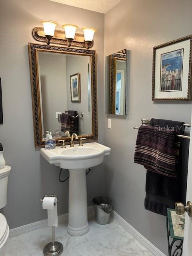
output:
[[73, 118], [72, 116], [77, 116], [77, 112], [68, 110], [68, 113], [61, 115], [61, 131], [66, 132], [68, 130], [70, 134], [74, 132], [78, 134], [78, 117]]

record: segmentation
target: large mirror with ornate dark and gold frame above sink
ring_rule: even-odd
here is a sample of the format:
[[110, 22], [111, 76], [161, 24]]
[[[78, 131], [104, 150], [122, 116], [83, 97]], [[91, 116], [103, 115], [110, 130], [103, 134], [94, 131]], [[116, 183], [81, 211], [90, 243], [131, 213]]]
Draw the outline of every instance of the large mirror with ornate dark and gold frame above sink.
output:
[[[96, 51], [29, 43], [35, 146], [97, 137]], [[58, 143], [58, 142], [57, 142]]]

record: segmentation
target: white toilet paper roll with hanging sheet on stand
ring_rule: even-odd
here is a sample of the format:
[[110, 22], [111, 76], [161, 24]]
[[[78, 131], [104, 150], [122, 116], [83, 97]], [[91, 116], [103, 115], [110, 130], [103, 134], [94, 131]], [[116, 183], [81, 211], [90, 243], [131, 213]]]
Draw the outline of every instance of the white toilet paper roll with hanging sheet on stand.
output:
[[58, 226], [56, 197], [45, 196], [43, 199], [43, 209], [47, 210], [48, 226]]

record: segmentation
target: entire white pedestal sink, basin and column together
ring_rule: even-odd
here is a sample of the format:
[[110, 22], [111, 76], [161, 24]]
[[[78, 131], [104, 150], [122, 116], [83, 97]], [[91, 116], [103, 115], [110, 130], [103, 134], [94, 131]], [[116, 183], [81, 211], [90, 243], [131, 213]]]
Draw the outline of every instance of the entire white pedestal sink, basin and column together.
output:
[[52, 150], [42, 148], [40, 153], [50, 163], [68, 169], [69, 178], [69, 216], [68, 234], [82, 236], [89, 231], [87, 219], [86, 170], [103, 162], [111, 149], [97, 142], [84, 143], [83, 146]]

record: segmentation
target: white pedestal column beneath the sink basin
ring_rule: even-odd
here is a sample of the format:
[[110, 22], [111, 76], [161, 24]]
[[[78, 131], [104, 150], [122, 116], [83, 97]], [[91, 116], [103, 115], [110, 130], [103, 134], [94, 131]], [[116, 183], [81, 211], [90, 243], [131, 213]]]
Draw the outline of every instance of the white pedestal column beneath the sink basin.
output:
[[69, 216], [67, 232], [82, 236], [89, 231], [87, 219], [86, 169], [69, 170]]

